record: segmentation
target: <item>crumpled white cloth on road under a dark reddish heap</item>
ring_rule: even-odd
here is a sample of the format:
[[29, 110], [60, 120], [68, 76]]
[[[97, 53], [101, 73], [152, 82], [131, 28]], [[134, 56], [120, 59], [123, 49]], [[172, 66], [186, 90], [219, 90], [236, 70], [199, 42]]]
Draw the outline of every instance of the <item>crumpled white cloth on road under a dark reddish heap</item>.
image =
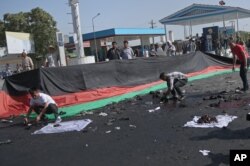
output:
[[230, 115], [217, 115], [217, 123], [197, 123], [198, 119], [200, 119], [200, 116], [195, 116], [192, 121], [187, 122], [184, 127], [198, 127], [198, 128], [213, 128], [213, 127], [227, 127], [230, 122], [232, 122], [234, 119], [236, 119], [237, 116], [230, 116]]

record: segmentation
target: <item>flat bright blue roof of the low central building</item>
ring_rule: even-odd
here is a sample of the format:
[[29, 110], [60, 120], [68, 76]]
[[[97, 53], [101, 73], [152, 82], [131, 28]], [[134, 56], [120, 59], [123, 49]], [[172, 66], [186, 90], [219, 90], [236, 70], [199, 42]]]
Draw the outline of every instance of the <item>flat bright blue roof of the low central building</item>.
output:
[[[163, 28], [112, 28], [102, 31], [96, 31], [96, 39], [107, 38], [113, 36], [137, 36], [137, 35], [164, 35]], [[94, 40], [94, 33], [86, 33], [82, 35], [83, 41]], [[73, 42], [73, 37], [69, 39], [70, 43]]]

